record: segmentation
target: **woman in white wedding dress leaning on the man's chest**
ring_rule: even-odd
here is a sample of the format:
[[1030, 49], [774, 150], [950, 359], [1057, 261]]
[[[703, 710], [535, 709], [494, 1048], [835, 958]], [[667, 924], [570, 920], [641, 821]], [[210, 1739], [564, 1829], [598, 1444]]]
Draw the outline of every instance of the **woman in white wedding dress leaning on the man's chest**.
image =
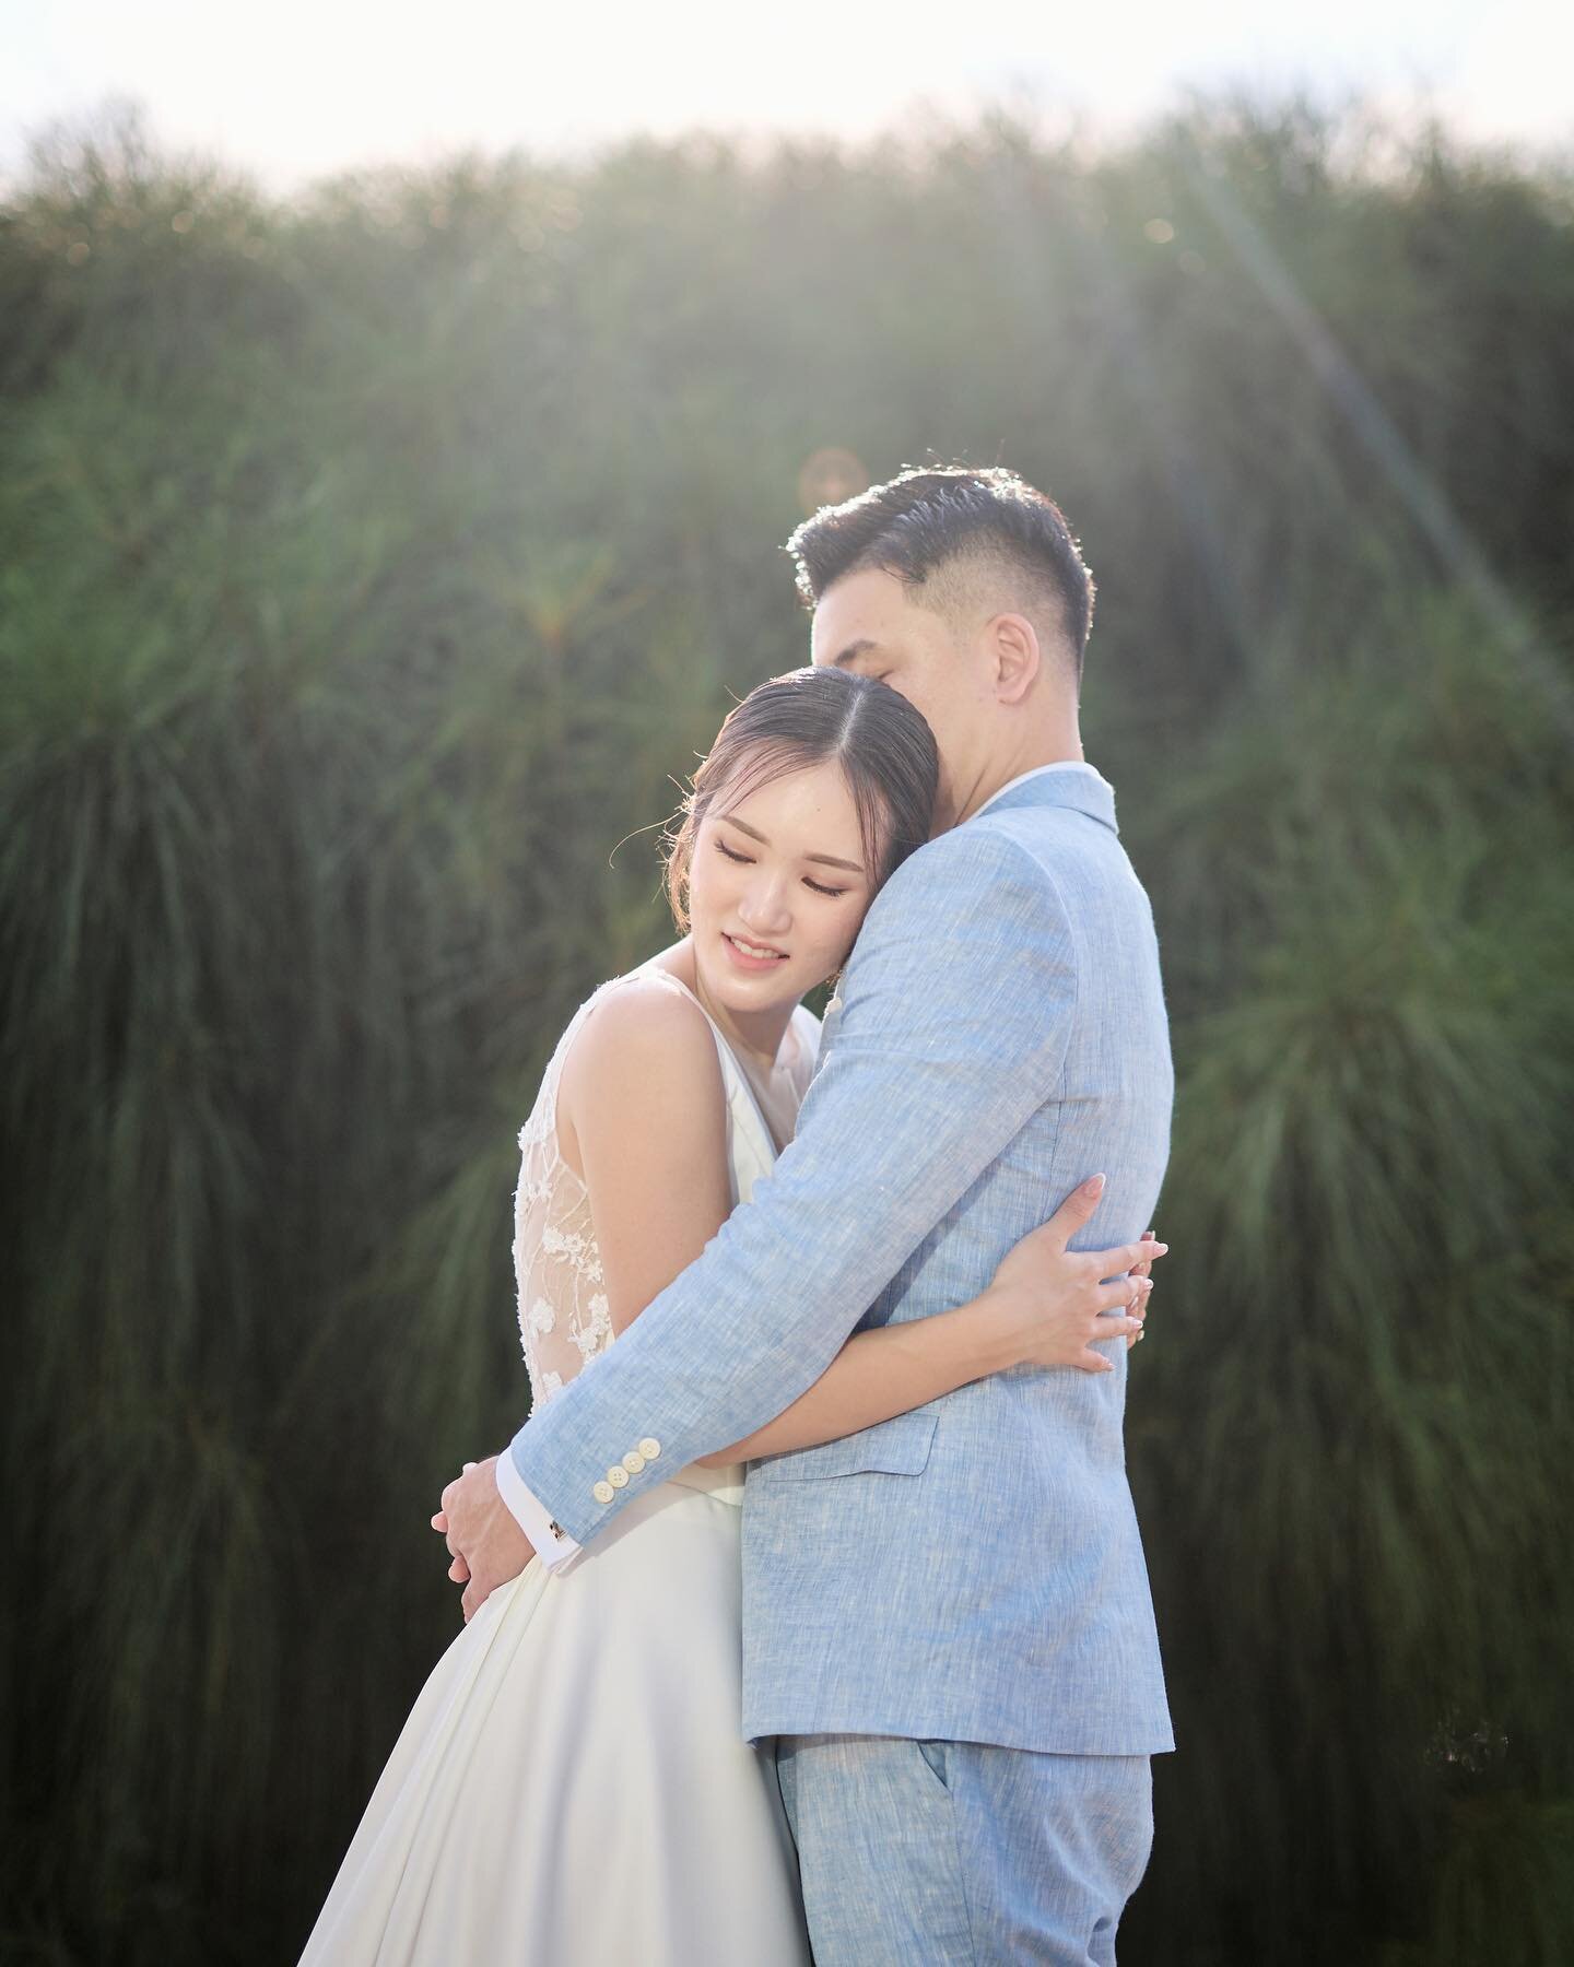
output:
[[[754, 690], [669, 854], [683, 940], [604, 984], [553, 1052], [515, 1194], [537, 1402], [594, 1361], [748, 1202], [815, 1066], [799, 1003], [929, 836], [937, 757], [895, 690], [832, 669]], [[803, 1967], [769, 1758], [740, 1737], [744, 1463], [836, 1440], [1019, 1365], [1110, 1369], [1145, 1277], [1064, 1261], [937, 1318], [856, 1334], [744, 1442], [630, 1505], [594, 1550], [494, 1591], [421, 1692], [303, 1963]], [[661, 1454], [641, 1442], [634, 1473]], [[608, 1479], [628, 1479], [608, 1469]], [[610, 1491], [608, 1491], [610, 1493]], [[439, 1519], [441, 1520], [441, 1519]]]

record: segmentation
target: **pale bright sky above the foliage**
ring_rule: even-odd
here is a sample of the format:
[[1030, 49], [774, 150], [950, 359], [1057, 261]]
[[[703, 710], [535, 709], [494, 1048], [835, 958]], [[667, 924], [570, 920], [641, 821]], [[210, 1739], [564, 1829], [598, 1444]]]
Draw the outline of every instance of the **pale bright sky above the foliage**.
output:
[[155, 138], [291, 189], [462, 148], [630, 132], [868, 138], [1031, 102], [1125, 128], [1186, 89], [1430, 102], [1466, 134], [1574, 149], [1574, 8], [1546, 0], [0, 0], [0, 171], [108, 96]]

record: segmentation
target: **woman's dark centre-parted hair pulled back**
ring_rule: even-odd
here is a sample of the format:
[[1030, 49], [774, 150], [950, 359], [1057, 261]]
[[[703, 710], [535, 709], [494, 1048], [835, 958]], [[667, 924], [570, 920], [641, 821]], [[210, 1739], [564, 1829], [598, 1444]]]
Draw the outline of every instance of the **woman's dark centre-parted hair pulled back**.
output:
[[689, 928], [695, 834], [716, 795], [728, 805], [761, 785], [834, 759], [858, 810], [872, 891], [929, 840], [940, 759], [921, 710], [885, 683], [844, 669], [789, 669], [728, 712], [667, 834], [667, 899]]

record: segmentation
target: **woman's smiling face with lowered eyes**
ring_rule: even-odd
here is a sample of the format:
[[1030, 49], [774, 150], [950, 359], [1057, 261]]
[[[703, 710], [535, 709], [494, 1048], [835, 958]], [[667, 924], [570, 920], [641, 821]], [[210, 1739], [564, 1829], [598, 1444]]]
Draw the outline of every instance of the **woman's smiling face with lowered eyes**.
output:
[[746, 793], [726, 785], [695, 830], [689, 932], [714, 1003], [797, 1003], [846, 960], [870, 905], [858, 808], [836, 763]]

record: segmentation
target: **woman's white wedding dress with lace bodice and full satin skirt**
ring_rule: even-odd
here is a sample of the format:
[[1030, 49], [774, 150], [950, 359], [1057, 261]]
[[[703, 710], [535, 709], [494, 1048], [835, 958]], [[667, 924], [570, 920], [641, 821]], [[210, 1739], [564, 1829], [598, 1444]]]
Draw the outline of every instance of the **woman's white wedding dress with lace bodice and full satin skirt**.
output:
[[[657, 966], [636, 974], [691, 995]], [[612, 1343], [557, 1084], [620, 982], [580, 1005], [519, 1133], [514, 1265], [537, 1402]], [[775, 1143], [712, 1033], [748, 1202]], [[791, 1103], [817, 1041], [797, 1011], [777, 1070]], [[301, 1967], [807, 1967], [775, 1770], [740, 1733], [742, 1499], [742, 1465], [679, 1469], [567, 1572], [535, 1560], [488, 1597], [421, 1690]]]

